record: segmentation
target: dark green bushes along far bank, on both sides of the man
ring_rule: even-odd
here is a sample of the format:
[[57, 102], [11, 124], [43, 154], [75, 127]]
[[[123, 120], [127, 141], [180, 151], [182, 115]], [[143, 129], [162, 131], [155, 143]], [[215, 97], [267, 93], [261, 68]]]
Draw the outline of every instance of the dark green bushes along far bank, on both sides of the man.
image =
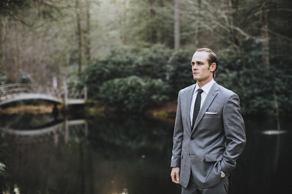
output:
[[[194, 51], [156, 45], [132, 54], [112, 52], [89, 65], [81, 82], [87, 84], [89, 98], [103, 99], [122, 111], [141, 112], [166, 96], [175, 101], [179, 90], [195, 83], [190, 65]], [[279, 112], [292, 112], [290, 55], [270, 56], [269, 66], [262, 64], [262, 53], [256, 49], [244, 56], [225, 49], [218, 56], [215, 80], [237, 93], [243, 114], [274, 115], [274, 94]]]

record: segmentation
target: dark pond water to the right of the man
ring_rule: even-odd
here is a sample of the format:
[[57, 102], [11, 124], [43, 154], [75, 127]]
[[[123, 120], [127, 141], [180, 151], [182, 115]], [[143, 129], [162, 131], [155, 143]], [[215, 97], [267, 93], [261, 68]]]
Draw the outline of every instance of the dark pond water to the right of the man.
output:
[[247, 144], [233, 173], [231, 191], [235, 194], [290, 194], [292, 184], [291, 121], [282, 121], [287, 131], [267, 135], [277, 129], [276, 120], [246, 119]]

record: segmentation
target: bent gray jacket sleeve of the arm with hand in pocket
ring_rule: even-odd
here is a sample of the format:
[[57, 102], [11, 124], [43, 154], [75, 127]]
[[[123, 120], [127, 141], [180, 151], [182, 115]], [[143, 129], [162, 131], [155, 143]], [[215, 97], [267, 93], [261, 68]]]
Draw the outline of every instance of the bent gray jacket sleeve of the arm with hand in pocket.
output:
[[230, 176], [246, 143], [244, 121], [241, 116], [239, 97], [236, 94], [227, 98], [222, 119], [225, 136], [231, 142], [226, 146], [220, 165], [221, 171]]

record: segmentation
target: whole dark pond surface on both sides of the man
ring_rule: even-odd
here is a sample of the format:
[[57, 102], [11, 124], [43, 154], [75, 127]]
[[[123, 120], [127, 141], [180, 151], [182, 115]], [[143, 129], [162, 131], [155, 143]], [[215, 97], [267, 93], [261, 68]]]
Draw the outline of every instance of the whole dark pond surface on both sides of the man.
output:
[[[1, 194], [180, 194], [171, 182], [173, 119], [0, 116]], [[292, 121], [245, 119], [229, 194], [291, 194]]]

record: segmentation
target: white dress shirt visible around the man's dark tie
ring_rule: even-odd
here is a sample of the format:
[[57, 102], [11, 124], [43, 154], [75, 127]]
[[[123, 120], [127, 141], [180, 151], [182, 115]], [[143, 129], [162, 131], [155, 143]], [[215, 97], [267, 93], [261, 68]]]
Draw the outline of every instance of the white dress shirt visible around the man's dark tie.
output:
[[[203, 87], [201, 87], [201, 89], [203, 90], [203, 92], [201, 93], [201, 106], [200, 109], [212, 87], [212, 85], [215, 83], [214, 79], [212, 79], [209, 83], [205, 84]], [[194, 90], [194, 94], [193, 94], [193, 98], [192, 98], [192, 103], [191, 103], [191, 110], [190, 110], [190, 118], [191, 118], [191, 126], [193, 126], [193, 115], [194, 115], [194, 107], [195, 107], [195, 101], [197, 98], [197, 94], [198, 94], [198, 89], [200, 89], [199, 85], [196, 83], [196, 87]]]

